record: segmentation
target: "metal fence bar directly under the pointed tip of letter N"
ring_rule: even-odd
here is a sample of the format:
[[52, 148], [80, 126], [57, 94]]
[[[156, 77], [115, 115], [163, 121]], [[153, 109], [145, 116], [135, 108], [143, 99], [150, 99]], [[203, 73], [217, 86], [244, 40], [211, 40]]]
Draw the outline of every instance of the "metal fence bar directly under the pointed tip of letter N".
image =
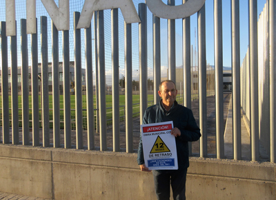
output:
[[70, 46], [69, 31], [62, 31], [63, 60], [63, 126], [64, 148], [71, 148], [71, 102], [70, 102]]

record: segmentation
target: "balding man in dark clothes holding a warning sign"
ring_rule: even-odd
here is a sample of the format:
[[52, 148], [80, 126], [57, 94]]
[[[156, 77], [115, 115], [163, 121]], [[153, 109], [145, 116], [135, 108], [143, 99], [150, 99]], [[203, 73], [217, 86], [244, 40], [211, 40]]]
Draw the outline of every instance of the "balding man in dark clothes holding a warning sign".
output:
[[[172, 80], [164, 80], [159, 85], [158, 104], [148, 107], [144, 113], [143, 124], [172, 121], [171, 133], [177, 146], [178, 170], [152, 170], [155, 192], [158, 200], [170, 199], [170, 185], [175, 200], [186, 199], [186, 174], [189, 166], [188, 142], [199, 140], [200, 129], [190, 109], [177, 103], [177, 89]], [[144, 172], [150, 172], [145, 165], [143, 144], [140, 136], [137, 162]]]

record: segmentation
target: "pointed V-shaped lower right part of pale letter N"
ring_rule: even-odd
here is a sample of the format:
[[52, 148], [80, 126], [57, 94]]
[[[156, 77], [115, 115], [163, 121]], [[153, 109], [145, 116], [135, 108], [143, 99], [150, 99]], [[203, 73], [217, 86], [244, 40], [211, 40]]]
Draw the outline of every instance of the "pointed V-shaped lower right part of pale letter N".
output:
[[59, 0], [59, 8], [54, 0], [41, 0], [57, 30], [69, 30], [69, 0]]

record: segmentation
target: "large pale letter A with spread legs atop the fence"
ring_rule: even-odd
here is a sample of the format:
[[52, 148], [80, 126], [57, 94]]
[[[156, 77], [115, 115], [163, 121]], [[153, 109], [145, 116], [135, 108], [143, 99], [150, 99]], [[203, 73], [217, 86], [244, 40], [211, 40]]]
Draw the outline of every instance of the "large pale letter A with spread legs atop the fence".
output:
[[140, 19], [132, 0], [86, 0], [77, 28], [89, 27], [95, 10], [121, 8], [126, 23], [139, 23]]

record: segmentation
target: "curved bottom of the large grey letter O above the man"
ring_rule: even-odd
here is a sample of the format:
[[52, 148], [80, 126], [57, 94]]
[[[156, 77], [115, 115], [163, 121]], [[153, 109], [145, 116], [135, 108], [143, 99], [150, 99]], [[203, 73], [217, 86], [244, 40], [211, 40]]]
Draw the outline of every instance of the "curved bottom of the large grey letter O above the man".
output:
[[146, 0], [152, 14], [164, 19], [186, 18], [199, 11], [204, 3], [205, 0], [188, 0], [182, 5], [166, 5], [162, 0]]

